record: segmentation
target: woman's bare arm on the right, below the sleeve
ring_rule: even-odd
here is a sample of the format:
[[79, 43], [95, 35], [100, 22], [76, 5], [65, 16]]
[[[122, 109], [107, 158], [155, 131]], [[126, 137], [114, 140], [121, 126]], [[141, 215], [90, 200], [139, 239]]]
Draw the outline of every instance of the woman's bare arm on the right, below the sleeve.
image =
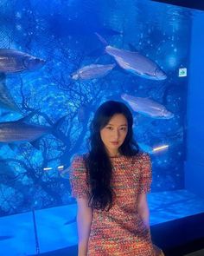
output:
[[146, 194], [138, 195], [138, 213], [143, 219], [143, 223], [150, 230], [150, 210], [147, 202]]

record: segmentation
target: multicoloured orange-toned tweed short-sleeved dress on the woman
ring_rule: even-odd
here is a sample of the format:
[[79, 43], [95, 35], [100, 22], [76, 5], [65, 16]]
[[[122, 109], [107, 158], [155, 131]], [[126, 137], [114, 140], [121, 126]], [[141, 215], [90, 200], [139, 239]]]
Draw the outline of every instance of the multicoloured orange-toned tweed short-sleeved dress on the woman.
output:
[[[109, 212], [93, 209], [87, 256], [154, 256], [150, 232], [137, 212], [138, 195], [150, 192], [150, 156], [122, 155], [111, 161], [116, 198]], [[73, 197], [89, 197], [82, 156], [73, 160], [70, 185]]]

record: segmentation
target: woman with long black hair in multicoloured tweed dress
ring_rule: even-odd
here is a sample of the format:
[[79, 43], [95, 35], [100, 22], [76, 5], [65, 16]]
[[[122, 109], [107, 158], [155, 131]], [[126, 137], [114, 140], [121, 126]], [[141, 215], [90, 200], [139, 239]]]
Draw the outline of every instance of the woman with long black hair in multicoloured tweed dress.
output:
[[70, 184], [77, 199], [78, 256], [154, 256], [149, 208], [151, 164], [133, 141], [122, 102], [105, 102], [91, 123], [90, 150], [76, 156]]

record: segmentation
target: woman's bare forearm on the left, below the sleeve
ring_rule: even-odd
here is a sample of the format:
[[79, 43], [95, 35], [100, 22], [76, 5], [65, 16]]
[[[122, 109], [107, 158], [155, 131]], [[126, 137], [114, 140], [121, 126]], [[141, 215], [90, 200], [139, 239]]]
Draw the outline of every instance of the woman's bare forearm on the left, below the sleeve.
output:
[[77, 206], [78, 256], [86, 256], [92, 224], [92, 208], [88, 207], [88, 200], [84, 198], [77, 199]]

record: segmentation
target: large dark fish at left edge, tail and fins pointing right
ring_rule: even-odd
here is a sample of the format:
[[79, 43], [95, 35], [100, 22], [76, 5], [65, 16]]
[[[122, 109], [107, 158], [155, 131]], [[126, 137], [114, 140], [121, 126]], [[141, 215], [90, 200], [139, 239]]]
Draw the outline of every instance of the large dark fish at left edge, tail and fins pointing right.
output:
[[[31, 116], [34, 114], [35, 112], [31, 113]], [[28, 141], [35, 148], [39, 149], [37, 141], [43, 135], [54, 134], [61, 121], [65, 118], [60, 118], [54, 123], [53, 127], [46, 127], [27, 123], [28, 117], [30, 118], [30, 115], [17, 121], [0, 122], [0, 143], [7, 143], [13, 149], [16, 146], [14, 143]]]

